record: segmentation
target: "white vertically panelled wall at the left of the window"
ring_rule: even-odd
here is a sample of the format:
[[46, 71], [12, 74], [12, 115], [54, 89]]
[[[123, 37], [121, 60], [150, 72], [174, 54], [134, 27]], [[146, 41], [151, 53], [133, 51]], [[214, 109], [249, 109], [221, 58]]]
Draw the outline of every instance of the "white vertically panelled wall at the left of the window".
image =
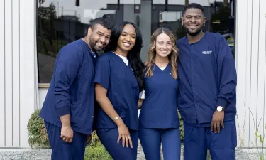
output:
[[0, 0], [0, 22], [0, 147], [28, 147], [37, 95], [35, 1]]

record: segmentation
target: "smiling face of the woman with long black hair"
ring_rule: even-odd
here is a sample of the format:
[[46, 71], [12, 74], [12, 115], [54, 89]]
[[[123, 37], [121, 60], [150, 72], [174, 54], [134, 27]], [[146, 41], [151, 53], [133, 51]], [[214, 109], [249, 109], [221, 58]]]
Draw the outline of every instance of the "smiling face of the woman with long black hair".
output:
[[135, 28], [131, 24], [126, 24], [119, 36], [117, 47], [122, 52], [128, 53], [135, 46], [136, 33]]

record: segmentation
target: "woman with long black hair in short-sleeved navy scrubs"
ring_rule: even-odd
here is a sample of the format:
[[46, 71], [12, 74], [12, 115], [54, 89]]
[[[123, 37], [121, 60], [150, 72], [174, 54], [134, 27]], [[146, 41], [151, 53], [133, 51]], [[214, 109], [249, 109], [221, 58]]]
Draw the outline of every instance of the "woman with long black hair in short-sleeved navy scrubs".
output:
[[131, 22], [117, 24], [96, 65], [96, 133], [113, 159], [135, 160], [138, 147], [138, 100], [143, 89], [141, 33]]

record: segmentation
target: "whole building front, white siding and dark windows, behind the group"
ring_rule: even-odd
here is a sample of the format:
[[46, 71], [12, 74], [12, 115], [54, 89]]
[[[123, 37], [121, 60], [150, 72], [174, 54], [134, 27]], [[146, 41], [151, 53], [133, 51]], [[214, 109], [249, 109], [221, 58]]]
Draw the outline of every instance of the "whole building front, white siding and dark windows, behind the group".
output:
[[156, 28], [185, 36], [182, 10], [192, 2], [204, 6], [204, 31], [221, 33], [235, 58], [238, 147], [261, 147], [256, 137], [266, 128], [265, 0], [0, 0], [0, 147], [28, 147], [28, 119], [43, 105], [58, 50], [82, 38], [94, 18], [136, 23], [145, 60]]

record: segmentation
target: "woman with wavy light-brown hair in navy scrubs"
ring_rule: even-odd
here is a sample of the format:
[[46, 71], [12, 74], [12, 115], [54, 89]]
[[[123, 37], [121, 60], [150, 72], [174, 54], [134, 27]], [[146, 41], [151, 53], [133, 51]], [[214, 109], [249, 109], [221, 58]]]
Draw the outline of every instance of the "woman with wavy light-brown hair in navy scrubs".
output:
[[165, 160], [180, 159], [176, 41], [170, 29], [158, 28], [148, 49], [138, 134], [147, 160], [160, 160], [161, 144]]

